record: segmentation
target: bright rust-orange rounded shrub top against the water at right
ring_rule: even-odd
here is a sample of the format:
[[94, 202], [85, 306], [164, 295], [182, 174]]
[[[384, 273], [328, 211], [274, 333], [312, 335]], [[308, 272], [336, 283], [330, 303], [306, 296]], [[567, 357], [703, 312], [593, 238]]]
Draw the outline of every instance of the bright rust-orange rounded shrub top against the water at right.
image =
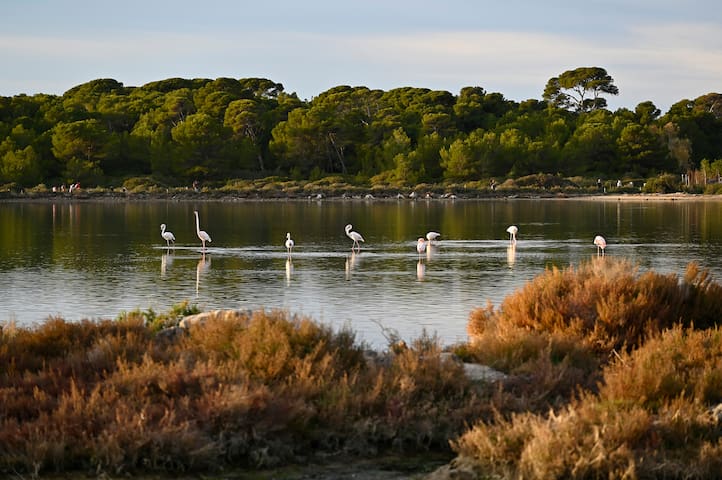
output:
[[627, 260], [601, 257], [547, 270], [504, 299], [499, 310], [474, 310], [468, 331], [472, 343], [487, 338], [487, 330], [498, 337], [519, 328], [559, 333], [604, 358], [677, 323], [713, 326], [720, 311], [722, 286], [696, 264], [680, 279], [639, 273]]

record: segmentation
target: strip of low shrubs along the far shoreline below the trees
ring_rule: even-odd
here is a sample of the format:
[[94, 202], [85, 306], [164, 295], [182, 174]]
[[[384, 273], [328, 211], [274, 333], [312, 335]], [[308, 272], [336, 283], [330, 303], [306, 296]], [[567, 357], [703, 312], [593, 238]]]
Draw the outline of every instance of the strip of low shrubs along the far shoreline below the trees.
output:
[[[671, 178], [667, 178], [671, 177]], [[0, 185], [0, 200], [34, 199], [193, 199], [193, 200], [277, 200], [277, 199], [495, 199], [495, 198], [713, 198], [719, 197], [716, 185], [685, 187], [675, 176], [662, 176], [633, 182], [606, 180], [597, 183], [591, 178], [563, 178], [558, 175], [536, 174], [516, 179], [485, 179], [461, 183], [403, 183], [359, 182], [348, 176], [331, 176], [318, 180], [291, 180], [266, 177], [255, 180], [228, 180], [193, 185], [159, 181], [152, 177], [134, 177], [115, 187], [81, 186], [70, 188], [37, 185], [19, 188], [14, 184]]]

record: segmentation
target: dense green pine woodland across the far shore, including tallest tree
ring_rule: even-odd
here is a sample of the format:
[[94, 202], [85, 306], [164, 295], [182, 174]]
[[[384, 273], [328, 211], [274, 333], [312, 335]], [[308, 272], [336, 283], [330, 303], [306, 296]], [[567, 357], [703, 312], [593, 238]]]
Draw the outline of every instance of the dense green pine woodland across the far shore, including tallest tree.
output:
[[[415, 185], [515, 178], [644, 179], [722, 166], [722, 94], [606, 108], [618, 88], [599, 67], [549, 80], [542, 99], [482, 87], [458, 93], [337, 86], [311, 100], [263, 78], [113, 79], [62, 96], [0, 97], [0, 185], [168, 185], [343, 175]], [[705, 182], [707, 179], [705, 178]]]

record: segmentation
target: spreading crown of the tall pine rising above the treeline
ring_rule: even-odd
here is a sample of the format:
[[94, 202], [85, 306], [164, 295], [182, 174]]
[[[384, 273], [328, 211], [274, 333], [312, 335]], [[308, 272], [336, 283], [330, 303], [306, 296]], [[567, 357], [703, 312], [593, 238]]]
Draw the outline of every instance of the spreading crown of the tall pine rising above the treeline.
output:
[[588, 112], [606, 108], [602, 94], [618, 95], [614, 79], [601, 67], [579, 67], [552, 77], [544, 88], [544, 100], [559, 108]]

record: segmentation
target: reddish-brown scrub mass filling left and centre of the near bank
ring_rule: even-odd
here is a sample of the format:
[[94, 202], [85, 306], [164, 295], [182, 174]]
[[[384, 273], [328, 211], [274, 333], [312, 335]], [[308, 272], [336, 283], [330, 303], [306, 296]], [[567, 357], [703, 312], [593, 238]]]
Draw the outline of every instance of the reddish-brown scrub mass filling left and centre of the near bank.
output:
[[0, 334], [0, 473], [214, 471], [449, 451], [488, 410], [435, 339], [367, 362], [348, 331], [219, 314], [176, 341], [140, 314]]

